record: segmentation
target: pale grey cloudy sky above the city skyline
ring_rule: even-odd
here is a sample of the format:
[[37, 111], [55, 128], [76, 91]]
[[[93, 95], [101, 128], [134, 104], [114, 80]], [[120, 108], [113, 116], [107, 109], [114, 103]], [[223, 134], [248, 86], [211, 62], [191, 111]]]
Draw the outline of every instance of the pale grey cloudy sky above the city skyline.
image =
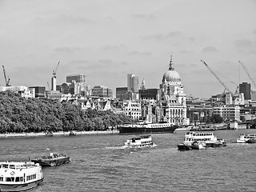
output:
[[[0, 0], [0, 63], [11, 86], [86, 74], [90, 88], [159, 88], [170, 55], [189, 97], [256, 79], [256, 0]], [[5, 79], [0, 73], [0, 85]], [[251, 84], [254, 90], [256, 87]], [[115, 92], [115, 91], [114, 91]]]

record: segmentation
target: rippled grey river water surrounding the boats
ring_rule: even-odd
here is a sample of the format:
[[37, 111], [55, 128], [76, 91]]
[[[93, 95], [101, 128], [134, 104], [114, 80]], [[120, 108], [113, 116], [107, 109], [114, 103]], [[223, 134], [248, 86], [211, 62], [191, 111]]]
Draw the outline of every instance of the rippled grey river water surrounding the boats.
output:
[[226, 147], [189, 151], [177, 147], [185, 132], [153, 134], [157, 146], [138, 150], [124, 149], [130, 136], [119, 134], [1, 138], [0, 161], [70, 155], [66, 165], [43, 168], [36, 192], [256, 191], [256, 144], [234, 143], [241, 133], [256, 130], [214, 131]]

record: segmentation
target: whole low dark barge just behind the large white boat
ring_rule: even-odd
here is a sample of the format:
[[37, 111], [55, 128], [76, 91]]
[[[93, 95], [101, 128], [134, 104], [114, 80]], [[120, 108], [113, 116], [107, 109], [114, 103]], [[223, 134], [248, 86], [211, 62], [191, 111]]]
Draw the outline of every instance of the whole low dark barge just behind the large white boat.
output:
[[31, 162], [39, 163], [40, 166], [60, 166], [70, 162], [70, 157], [66, 154], [50, 153], [42, 158], [34, 158]]

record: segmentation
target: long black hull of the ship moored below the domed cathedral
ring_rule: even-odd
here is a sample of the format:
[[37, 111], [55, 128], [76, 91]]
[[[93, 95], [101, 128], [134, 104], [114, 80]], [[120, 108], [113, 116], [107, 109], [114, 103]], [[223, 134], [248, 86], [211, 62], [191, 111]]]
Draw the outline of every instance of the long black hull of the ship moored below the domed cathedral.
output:
[[157, 133], [174, 133], [177, 126], [166, 127], [133, 127], [133, 126], [119, 126], [120, 134], [157, 134]]

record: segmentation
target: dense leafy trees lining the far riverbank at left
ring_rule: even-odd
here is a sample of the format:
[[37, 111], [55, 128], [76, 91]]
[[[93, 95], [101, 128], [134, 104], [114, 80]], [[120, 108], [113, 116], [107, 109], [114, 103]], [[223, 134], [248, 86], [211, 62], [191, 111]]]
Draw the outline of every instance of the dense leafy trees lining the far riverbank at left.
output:
[[107, 130], [131, 121], [125, 114], [114, 114], [111, 110], [81, 110], [70, 102], [0, 92], [0, 133]]

